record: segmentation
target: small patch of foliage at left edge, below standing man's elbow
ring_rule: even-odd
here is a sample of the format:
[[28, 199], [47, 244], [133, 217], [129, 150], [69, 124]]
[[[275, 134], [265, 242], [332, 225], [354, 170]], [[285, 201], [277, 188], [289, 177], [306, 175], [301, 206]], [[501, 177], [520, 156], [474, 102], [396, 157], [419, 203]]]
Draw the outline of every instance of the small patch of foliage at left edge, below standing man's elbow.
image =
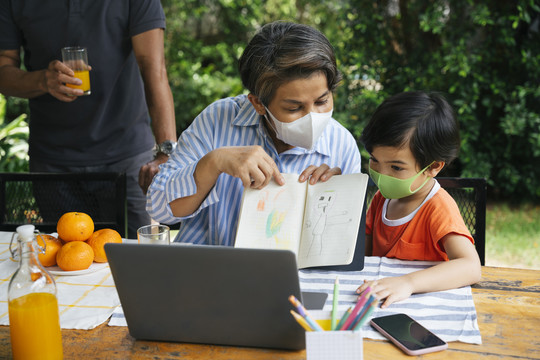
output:
[[26, 114], [4, 123], [6, 100], [0, 94], [0, 171], [28, 171], [28, 124]]

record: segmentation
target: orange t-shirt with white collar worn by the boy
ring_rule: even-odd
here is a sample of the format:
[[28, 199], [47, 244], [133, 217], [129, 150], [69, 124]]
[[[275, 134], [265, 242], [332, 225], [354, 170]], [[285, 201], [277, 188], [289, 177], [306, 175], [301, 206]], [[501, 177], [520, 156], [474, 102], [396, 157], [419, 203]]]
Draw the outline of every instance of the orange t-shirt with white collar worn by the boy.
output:
[[456, 202], [443, 188], [436, 190], [414, 217], [401, 225], [383, 222], [385, 200], [377, 191], [366, 214], [366, 234], [373, 236], [373, 256], [446, 261], [448, 255], [440, 241], [451, 233], [466, 236], [474, 244]]

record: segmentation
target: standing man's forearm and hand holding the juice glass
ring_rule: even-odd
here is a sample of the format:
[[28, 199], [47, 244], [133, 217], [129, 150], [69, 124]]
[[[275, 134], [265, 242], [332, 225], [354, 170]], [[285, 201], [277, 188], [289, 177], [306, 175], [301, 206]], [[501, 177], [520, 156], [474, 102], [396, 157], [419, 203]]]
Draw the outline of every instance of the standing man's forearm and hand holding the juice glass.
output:
[[65, 83], [80, 85], [73, 71], [64, 63], [53, 60], [47, 69], [24, 71], [20, 69], [19, 50], [0, 50], [0, 93], [31, 99], [50, 93], [57, 99], [71, 102], [83, 94], [80, 89], [72, 89]]

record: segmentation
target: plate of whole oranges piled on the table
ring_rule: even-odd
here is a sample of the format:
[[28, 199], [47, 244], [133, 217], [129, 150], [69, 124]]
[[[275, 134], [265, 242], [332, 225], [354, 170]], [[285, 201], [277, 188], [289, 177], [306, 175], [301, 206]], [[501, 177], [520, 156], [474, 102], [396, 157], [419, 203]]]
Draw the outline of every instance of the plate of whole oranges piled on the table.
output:
[[114, 229], [94, 231], [94, 221], [82, 212], [62, 215], [56, 231], [58, 236], [37, 236], [38, 244], [45, 247], [39, 261], [53, 275], [81, 275], [107, 267], [105, 244], [122, 242]]

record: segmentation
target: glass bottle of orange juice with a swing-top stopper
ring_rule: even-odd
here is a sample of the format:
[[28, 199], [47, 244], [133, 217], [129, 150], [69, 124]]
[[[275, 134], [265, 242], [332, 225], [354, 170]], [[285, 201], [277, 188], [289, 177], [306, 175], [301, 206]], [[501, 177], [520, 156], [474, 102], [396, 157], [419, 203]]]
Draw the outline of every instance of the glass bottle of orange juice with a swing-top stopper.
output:
[[[62, 333], [54, 279], [38, 260], [34, 225], [17, 228], [19, 268], [8, 286], [9, 330], [13, 359], [63, 358]], [[45, 242], [43, 242], [45, 245]], [[15, 256], [14, 256], [15, 257]]]

